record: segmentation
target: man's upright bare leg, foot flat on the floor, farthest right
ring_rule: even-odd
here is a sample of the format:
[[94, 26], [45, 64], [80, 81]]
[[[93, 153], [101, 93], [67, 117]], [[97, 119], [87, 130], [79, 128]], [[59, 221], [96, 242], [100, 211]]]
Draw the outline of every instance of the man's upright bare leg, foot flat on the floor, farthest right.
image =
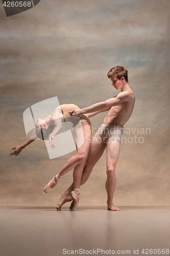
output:
[[107, 142], [107, 179], [106, 179], [106, 190], [107, 190], [107, 205], [109, 210], [119, 210], [113, 204], [113, 195], [116, 186], [116, 175], [115, 168], [120, 153], [120, 142], [112, 140]]

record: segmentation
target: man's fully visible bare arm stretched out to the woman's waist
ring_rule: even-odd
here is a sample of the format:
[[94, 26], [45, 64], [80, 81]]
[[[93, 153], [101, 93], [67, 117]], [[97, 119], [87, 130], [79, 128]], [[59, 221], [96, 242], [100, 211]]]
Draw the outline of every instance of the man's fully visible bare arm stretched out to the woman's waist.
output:
[[127, 92], [120, 92], [115, 98], [108, 99], [104, 102], [99, 102], [88, 106], [88, 108], [82, 110], [70, 111], [73, 116], [81, 117], [83, 114], [88, 114], [92, 112], [100, 112], [104, 109], [111, 108], [112, 106], [119, 105], [125, 101], [128, 101], [129, 94]]

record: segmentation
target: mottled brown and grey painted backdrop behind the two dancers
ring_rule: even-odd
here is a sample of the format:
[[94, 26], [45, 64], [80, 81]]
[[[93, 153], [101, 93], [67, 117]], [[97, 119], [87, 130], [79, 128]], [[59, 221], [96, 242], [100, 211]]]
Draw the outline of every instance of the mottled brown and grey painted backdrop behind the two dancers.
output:
[[[71, 171], [51, 193], [43, 192], [76, 152], [50, 160], [44, 141], [35, 141], [10, 157], [11, 148], [27, 139], [23, 112], [54, 96], [80, 108], [113, 97], [117, 92], [107, 72], [122, 65], [136, 103], [125, 125], [114, 204], [169, 205], [170, 2], [41, 0], [10, 17], [0, 4], [0, 204], [56, 205], [72, 182]], [[98, 128], [105, 115], [91, 118], [92, 127]], [[106, 152], [81, 187], [80, 205], [106, 205], [105, 180]]]

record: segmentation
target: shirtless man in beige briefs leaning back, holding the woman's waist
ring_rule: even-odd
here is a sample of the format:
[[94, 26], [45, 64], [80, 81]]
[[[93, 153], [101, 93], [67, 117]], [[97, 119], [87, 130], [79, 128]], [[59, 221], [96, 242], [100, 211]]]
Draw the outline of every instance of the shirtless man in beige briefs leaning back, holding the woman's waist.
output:
[[[107, 75], [112, 81], [112, 86], [114, 86], [116, 90], [120, 89], [121, 92], [114, 98], [93, 104], [85, 109], [70, 111], [70, 113], [78, 117], [81, 117], [83, 114], [91, 113], [88, 114], [88, 117], [92, 117], [100, 112], [109, 110], [103, 124], [91, 141], [90, 153], [83, 170], [81, 185], [87, 181], [93, 166], [101, 158], [105, 148], [107, 148], [107, 205], [109, 210], [119, 210], [119, 208], [113, 204], [113, 194], [116, 186], [115, 167], [124, 133], [123, 125], [129, 120], [133, 112], [135, 96], [128, 83], [128, 71], [124, 67], [116, 66], [112, 68]], [[72, 184], [60, 198], [56, 207], [57, 209], [61, 209], [64, 203], [72, 200], [70, 192], [73, 189]]]

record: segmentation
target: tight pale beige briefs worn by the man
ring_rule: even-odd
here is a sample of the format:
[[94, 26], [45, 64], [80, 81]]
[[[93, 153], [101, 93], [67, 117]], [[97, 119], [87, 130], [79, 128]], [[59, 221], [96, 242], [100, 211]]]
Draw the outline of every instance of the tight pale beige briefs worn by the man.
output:
[[123, 134], [124, 126], [122, 124], [104, 122], [94, 136], [104, 143], [111, 140], [117, 140], [121, 143]]

